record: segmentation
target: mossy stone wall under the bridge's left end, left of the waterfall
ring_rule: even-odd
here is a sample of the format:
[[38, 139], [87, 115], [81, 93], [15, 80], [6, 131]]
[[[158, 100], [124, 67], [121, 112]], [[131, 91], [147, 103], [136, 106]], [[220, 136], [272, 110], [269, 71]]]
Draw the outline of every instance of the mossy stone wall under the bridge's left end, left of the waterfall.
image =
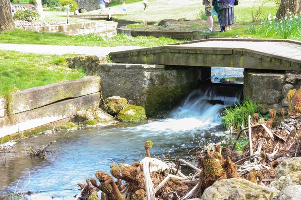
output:
[[70, 58], [69, 63], [70, 67], [84, 68], [88, 75], [99, 75], [104, 98], [124, 97], [130, 104], [143, 106], [147, 116], [171, 109], [202, 79], [201, 69], [189, 67], [167, 70], [163, 65], [101, 64], [86, 56]]

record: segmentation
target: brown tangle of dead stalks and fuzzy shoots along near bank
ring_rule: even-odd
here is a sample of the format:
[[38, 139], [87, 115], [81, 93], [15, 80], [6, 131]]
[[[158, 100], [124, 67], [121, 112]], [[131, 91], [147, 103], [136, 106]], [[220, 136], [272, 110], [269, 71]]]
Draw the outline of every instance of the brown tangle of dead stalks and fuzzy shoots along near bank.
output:
[[[285, 119], [276, 128], [272, 127], [275, 111], [270, 110], [270, 119], [258, 120], [258, 114], [249, 120], [249, 126], [241, 130], [249, 131], [252, 145], [247, 144], [242, 152], [235, 152], [233, 148], [220, 147], [210, 143], [195, 154], [195, 163], [184, 159], [178, 160], [178, 165], [166, 163], [151, 158], [149, 149], [153, 143], [145, 142], [147, 156], [140, 162], [133, 164], [113, 164], [111, 175], [97, 171], [91, 178], [92, 185], [81, 185], [81, 199], [91, 198], [84, 193], [100, 190], [101, 199], [106, 200], [155, 200], [201, 198], [204, 191], [214, 182], [238, 178], [246, 179], [262, 186], [269, 185], [276, 180], [275, 167], [287, 157], [301, 155], [301, 115]], [[251, 116], [249, 116], [251, 119]], [[180, 170], [185, 164], [194, 171], [186, 176]], [[114, 181], [114, 178], [117, 181]], [[91, 188], [94, 187], [94, 188]], [[84, 189], [84, 190], [83, 190]]]

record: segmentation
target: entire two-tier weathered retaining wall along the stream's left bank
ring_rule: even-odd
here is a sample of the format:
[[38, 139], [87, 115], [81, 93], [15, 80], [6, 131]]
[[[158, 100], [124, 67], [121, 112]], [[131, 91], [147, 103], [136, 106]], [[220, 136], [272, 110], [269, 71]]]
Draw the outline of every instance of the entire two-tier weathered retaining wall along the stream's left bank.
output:
[[81, 108], [97, 106], [99, 99], [99, 77], [81, 78], [16, 92], [12, 94], [9, 106], [6, 100], [0, 100], [0, 138], [69, 118]]

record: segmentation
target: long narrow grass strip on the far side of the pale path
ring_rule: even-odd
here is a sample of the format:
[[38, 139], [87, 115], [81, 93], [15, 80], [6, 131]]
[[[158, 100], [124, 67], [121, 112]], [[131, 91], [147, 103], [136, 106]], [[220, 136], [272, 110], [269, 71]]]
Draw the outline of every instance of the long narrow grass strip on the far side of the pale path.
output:
[[0, 43], [12, 44], [44, 44], [44, 45], [66, 45], [66, 46], [159, 46], [177, 43], [180, 40], [153, 36], [132, 37], [118, 34], [113, 37], [103, 37], [97, 34], [67, 36], [62, 33], [38, 33], [15, 29], [0, 34]]

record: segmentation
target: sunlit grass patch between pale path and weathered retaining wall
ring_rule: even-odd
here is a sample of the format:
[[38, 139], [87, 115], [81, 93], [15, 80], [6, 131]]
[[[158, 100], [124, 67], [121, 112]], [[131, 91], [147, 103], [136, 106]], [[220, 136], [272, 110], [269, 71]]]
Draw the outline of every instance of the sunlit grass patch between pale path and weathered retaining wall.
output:
[[84, 77], [82, 71], [68, 68], [65, 58], [70, 56], [0, 51], [0, 96]]

